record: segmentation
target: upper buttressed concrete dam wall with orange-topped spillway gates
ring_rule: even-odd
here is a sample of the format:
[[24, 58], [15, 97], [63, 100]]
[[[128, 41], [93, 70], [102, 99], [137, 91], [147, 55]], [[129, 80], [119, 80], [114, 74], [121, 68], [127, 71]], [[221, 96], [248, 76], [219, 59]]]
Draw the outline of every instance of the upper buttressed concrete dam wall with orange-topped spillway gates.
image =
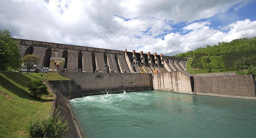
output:
[[[51, 57], [65, 58], [63, 69], [68, 72], [78, 72], [79, 69], [86, 69], [88, 72], [113, 70], [118, 73], [186, 70], [186, 58], [163, 56], [156, 53], [152, 55], [150, 52], [143, 53], [143, 51], [137, 53], [135, 50], [128, 52], [127, 50], [110, 50], [26, 39], [14, 40], [19, 44], [21, 57], [27, 54], [36, 55], [39, 57], [38, 65], [49, 68], [51, 68]], [[106, 70], [106, 68], [108, 69]]]

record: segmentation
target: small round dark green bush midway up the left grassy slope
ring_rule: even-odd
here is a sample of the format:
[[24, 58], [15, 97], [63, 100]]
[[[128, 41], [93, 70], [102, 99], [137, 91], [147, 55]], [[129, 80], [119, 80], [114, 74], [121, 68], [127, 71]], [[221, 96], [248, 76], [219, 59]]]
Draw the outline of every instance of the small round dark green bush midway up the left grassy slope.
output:
[[34, 97], [41, 97], [43, 94], [48, 95], [47, 86], [43, 83], [43, 79], [31, 80], [28, 85], [29, 93]]

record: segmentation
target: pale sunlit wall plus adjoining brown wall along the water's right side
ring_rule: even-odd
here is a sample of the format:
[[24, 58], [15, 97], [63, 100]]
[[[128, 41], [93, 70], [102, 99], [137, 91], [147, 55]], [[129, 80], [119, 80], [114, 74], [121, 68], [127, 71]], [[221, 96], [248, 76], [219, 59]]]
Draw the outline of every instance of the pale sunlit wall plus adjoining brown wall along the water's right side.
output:
[[254, 75], [212, 73], [191, 75], [185, 71], [153, 74], [156, 90], [199, 95], [256, 99]]

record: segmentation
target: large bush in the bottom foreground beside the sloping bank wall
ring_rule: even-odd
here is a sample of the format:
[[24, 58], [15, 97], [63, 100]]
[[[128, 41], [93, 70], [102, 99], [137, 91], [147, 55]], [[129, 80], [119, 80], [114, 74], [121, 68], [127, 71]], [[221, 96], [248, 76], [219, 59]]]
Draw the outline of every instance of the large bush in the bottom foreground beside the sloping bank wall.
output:
[[60, 111], [57, 109], [54, 114], [44, 119], [36, 115], [28, 121], [27, 126], [30, 137], [63, 138], [68, 129], [67, 121], [60, 116]]

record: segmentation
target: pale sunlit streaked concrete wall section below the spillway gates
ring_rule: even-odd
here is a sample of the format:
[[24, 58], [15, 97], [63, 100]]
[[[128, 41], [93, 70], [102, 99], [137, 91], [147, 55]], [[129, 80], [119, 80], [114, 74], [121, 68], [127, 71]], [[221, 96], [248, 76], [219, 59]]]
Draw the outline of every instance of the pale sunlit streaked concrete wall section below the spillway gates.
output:
[[152, 76], [155, 90], [193, 93], [193, 83], [191, 83], [193, 77], [184, 71], [154, 73]]

